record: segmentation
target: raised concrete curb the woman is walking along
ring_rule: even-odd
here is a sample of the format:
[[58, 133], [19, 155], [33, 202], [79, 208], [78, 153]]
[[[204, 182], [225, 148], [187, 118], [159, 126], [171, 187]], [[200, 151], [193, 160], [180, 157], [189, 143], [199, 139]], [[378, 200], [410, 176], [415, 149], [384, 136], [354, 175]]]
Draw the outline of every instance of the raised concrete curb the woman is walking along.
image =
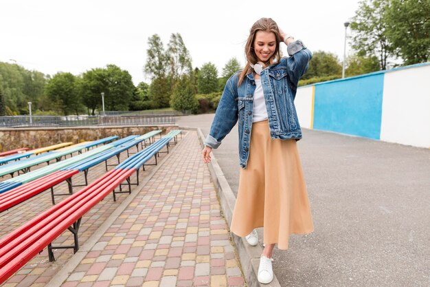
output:
[[[201, 129], [194, 127], [179, 127], [180, 129], [189, 129], [196, 130], [197, 134], [199, 134], [199, 138], [201, 140], [201, 145], [203, 147], [203, 141], [205, 140], [205, 136]], [[225, 219], [227, 220], [229, 226], [231, 224], [231, 217], [233, 217], [234, 204], [236, 203], [236, 197], [231, 191], [229, 183], [225, 179], [224, 173], [221, 170], [216, 157], [212, 153], [212, 160], [210, 164], [208, 164], [210, 173], [212, 175], [212, 180], [214, 180], [214, 184], [216, 190], [218, 191], [218, 197], [220, 198], [221, 208], [223, 209], [223, 213]], [[258, 244], [257, 246], [250, 246], [244, 237], [239, 237], [234, 233], [231, 233], [231, 238], [234, 240], [234, 244], [236, 245], [236, 249], [239, 254], [240, 264], [242, 265], [242, 270], [245, 275], [245, 280], [247, 282], [247, 286], [249, 287], [280, 287], [278, 278], [273, 274], [273, 281], [270, 284], [261, 284], [258, 282], [257, 274], [258, 274], [258, 266], [260, 264], [260, 255], [262, 254], [263, 248]]]

